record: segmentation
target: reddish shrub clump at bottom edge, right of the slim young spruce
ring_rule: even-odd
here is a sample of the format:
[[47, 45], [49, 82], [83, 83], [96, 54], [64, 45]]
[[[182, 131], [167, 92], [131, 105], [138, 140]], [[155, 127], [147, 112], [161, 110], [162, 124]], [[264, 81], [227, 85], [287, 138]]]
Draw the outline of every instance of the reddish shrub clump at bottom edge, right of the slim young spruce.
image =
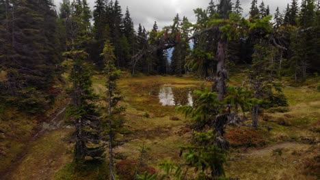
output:
[[[121, 160], [116, 164], [117, 175], [122, 180], [133, 180], [135, 179], [135, 173], [137, 172], [138, 165], [139, 162], [136, 160]], [[141, 174], [148, 172], [148, 174], [154, 175], [157, 171], [155, 168], [142, 164], [142, 166], [139, 167], [139, 172]]]

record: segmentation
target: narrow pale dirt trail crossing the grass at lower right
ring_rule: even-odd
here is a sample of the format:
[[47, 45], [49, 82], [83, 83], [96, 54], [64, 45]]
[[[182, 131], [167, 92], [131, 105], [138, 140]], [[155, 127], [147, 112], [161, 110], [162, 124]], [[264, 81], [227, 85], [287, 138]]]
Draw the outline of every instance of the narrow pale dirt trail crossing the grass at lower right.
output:
[[255, 149], [249, 151], [245, 155], [249, 156], [263, 156], [263, 155], [270, 155], [276, 149], [294, 149], [294, 150], [301, 150], [310, 147], [310, 145], [300, 144], [297, 142], [282, 142], [276, 145], [271, 145], [269, 147], [265, 147], [263, 149]]

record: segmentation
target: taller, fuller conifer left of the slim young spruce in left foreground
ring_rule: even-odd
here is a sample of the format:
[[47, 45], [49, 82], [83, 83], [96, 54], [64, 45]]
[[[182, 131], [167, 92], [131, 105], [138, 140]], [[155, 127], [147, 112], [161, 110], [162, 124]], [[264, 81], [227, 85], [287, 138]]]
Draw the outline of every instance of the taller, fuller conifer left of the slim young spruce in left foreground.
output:
[[68, 116], [75, 122], [75, 162], [83, 162], [85, 157], [100, 158], [103, 149], [100, 142], [100, 119], [94, 102], [96, 96], [93, 93], [91, 75], [88, 65], [85, 64], [88, 53], [84, 50], [72, 49], [64, 55], [73, 61], [70, 74], [72, 89], [72, 105]]

